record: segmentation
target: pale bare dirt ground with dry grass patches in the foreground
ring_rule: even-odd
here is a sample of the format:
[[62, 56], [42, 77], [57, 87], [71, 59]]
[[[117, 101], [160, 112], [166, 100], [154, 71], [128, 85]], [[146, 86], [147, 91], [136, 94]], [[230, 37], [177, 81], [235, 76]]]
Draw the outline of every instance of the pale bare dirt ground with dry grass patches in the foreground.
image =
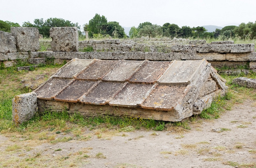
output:
[[115, 131], [99, 137], [86, 129], [90, 139], [54, 144], [0, 134], [0, 167], [256, 167], [255, 105], [245, 100], [183, 132]]

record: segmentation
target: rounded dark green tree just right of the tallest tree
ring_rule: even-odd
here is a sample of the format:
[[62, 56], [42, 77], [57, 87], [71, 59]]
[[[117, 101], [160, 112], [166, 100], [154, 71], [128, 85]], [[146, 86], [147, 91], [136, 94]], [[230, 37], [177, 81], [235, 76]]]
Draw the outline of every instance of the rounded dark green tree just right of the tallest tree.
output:
[[[105, 25], [104, 25], [105, 27]], [[119, 22], [108, 22], [105, 28], [106, 34], [110, 35], [113, 38], [124, 38], [125, 32], [122, 26], [119, 25]]]

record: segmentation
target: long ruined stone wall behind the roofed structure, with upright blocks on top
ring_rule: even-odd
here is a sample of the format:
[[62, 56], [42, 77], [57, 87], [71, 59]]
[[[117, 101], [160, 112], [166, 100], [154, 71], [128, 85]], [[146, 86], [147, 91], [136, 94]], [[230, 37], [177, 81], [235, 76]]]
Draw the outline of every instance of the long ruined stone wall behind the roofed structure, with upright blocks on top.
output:
[[[234, 41], [139, 38], [78, 41], [76, 27], [53, 27], [52, 41], [41, 40], [48, 45], [47, 52], [39, 50], [38, 29], [12, 27], [11, 34], [0, 31], [0, 62], [12, 66], [16, 59], [31, 63], [44, 63], [55, 58], [56, 63], [72, 58], [80, 59], [131, 59], [131, 60], [198, 60], [206, 59], [213, 66], [240, 66], [249, 64], [256, 71], [254, 44], [234, 44]], [[91, 52], [82, 52], [90, 49]], [[80, 50], [80, 52], [78, 52]], [[88, 51], [88, 50], [87, 50]]]

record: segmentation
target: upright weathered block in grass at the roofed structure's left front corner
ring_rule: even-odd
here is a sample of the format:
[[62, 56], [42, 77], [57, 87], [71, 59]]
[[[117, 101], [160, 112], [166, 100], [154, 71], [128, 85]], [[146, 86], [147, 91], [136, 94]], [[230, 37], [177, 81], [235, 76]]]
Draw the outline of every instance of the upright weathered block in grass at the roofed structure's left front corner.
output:
[[17, 95], [12, 99], [12, 118], [16, 124], [31, 119], [38, 110], [35, 92]]

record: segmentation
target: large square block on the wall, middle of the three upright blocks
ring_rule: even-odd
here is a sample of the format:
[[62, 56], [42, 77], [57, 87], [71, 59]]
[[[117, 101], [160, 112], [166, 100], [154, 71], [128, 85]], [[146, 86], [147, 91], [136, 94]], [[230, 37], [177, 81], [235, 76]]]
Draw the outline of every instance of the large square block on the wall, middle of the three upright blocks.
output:
[[11, 27], [16, 38], [18, 52], [35, 52], [39, 50], [39, 31], [35, 27]]

